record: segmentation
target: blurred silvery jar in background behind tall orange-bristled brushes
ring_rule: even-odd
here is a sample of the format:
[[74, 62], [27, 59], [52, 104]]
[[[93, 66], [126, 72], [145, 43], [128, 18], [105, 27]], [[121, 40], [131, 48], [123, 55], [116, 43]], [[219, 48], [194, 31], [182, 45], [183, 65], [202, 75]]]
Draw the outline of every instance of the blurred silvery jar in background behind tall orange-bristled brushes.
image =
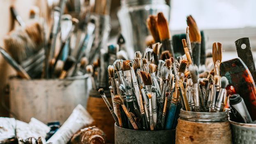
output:
[[121, 25], [121, 33], [126, 40], [126, 51], [130, 58], [135, 51], [146, 49], [146, 37], [151, 35], [147, 28], [147, 18], [150, 14], [163, 12], [170, 21], [170, 6], [165, 0], [122, 0], [117, 16]]

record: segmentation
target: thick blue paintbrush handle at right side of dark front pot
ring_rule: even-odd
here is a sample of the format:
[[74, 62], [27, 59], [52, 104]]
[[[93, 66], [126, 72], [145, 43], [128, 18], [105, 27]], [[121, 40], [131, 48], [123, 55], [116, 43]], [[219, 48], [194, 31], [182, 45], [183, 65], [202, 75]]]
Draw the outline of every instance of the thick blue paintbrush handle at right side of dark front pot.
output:
[[166, 122], [165, 122], [165, 130], [172, 129], [173, 121], [175, 118], [176, 107], [177, 107], [177, 104], [171, 103], [170, 109], [167, 114]]

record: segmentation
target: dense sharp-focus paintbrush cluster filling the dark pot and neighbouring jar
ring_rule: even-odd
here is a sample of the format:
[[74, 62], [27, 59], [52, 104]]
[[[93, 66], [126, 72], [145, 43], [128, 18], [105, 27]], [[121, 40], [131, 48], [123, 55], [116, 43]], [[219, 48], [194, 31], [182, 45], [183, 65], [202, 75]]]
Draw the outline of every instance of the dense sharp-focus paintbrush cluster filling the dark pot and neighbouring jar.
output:
[[[154, 50], [160, 47], [160, 43], [152, 45]], [[225, 109], [228, 80], [219, 75], [220, 43], [218, 47], [213, 44], [212, 71], [202, 65], [198, 68], [185, 55], [174, 59], [168, 51], [158, 60], [153, 49], [147, 48], [144, 56], [137, 51], [133, 60], [116, 60], [108, 67], [114, 110], [108, 107], [119, 126], [169, 130], [176, 127], [181, 108], [196, 112]], [[105, 98], [102, 88], [99, 92]]]

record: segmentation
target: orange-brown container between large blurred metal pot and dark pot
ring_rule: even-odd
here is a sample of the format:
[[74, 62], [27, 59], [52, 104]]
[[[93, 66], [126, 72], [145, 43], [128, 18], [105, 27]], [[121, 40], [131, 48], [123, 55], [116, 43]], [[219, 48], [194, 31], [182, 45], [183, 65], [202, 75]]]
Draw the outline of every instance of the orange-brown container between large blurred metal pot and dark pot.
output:
[[[107, 100], [112, 105], [111, 94], [109, 90], [104, 91]], [[113, 105], [112, 105], [113, 107]], [[87, 111], [91, 114], [94, 122], [91, 125], [96, 125], [103, 130], [107, 136], [107, 143], [114, 143], [114, 118], [110, 113], [107, 105], [102, 99], [97, 90], [91, 90], [89, 93]]]

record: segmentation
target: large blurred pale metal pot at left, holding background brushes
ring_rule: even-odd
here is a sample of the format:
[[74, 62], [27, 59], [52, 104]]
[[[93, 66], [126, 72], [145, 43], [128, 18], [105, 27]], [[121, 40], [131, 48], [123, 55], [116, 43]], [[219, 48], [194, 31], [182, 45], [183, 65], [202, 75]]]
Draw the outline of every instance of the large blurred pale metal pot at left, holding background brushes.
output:
[[64, 123], [73, 109], [86, 107], [87, 75], [67, 79], [10, 78], [10, 111], [21, 121], [34, 117], [43, 123]]

